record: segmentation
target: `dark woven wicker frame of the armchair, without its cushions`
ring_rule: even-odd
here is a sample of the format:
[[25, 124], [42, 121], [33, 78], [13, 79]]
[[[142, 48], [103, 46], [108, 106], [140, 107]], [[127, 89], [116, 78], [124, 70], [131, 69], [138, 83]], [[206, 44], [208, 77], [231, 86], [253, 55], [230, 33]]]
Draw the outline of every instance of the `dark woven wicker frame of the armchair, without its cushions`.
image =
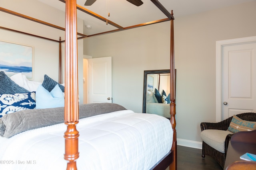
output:
[[[237, 117], [239, 117], [240, 119], [246, 120], [246, 121], [256, 121], [256, 113], [241, 113], [236, 115]], [[201, 126], [201, 130], [206, 130], [206, 129], [218, 129], [218, 130], [224, 130], [226, 131], [230, 125], [231, 119], [232, 117], [229, 117], [228, 119], [225, 119], [221, 122], [218, 123], [207, 123], [207, 122], [202, 122], [200, 124]], [[231, 133], [231, 132], [230, 132]], [[226, 159], [226, 153], [228, 150], [228, 143], [231, 139], [233, 134], [228, 134], [226, 136], [225, 139], [225, 152], [219, 152], [218, 150], [210, 147], [209, 145], [207, 145], [204, 141], [202, 144], [202, 157], [204, 158], [205, 155], [211, 156], [212, 158], [214, 158], [219, 164], [220, 166], [223, 168], [224, 164], [225, 164], [225, 159]]]

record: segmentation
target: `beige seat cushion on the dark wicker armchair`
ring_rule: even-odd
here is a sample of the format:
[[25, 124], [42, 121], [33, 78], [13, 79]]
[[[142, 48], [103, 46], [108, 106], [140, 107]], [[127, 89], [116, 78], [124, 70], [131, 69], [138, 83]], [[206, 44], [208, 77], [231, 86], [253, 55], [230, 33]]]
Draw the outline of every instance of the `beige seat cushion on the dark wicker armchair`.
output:
[[206, 129], [201, 132], [201, 138], [210, 147], [218, 150], [221, 153], [225, 153], [225, 139], [228, 134], [232, 134], [232, 132]]

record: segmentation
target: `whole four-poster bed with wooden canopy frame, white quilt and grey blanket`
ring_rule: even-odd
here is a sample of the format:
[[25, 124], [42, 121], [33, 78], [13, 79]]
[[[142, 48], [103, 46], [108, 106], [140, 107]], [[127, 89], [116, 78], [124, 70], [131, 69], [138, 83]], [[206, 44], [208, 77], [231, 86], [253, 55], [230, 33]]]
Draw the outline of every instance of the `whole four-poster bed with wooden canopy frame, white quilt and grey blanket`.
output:
[[[76, 0], [62, 1], [66, 3], [64, 107], [26, 109], [2, 116], [0, 120], [2, 124], [0, 127], [2, 135], [0, 137], [1, 169], [3, 167], [28, 170], [36, 167], [36, 169], [66, 168], [67, 170], [76, 170], [77, 168], [146, 170], [166, 169], [168, 166], [171, 170], [177, 169], [174, 18], [173, 14], [170, 14], [160, 2], [151, 1], [168, 18], [125, 29], [170, 21], [170, 121], [159, 115], [134, 113], [116, 104], [78, 106], [77, 36], [80, 35], [79, 38], [87, 36], [77, 35], [76, 31], [76, 10], [78, 8], [81, 10], [81, 7], [77, 6]], [[52, 26], [4, 8], [0, 8], [0, 10]], [[5, 27], [0, 28], [16, 31]], [[113, 30], [109, 33], [115, 31], [120, 30]], [[61, 41], [57, 42], [62, 43]], [[62, 83], [61, 70], [60, 64], [60, 83]], [[108, 109], [113, 108], [113, 105], [118, 109]], [[36, 116], [37, 111], [38, 115], [42, 115], [42, 117]], [[53, 112], [54, 114], [51, 114]], [[152, 131], [149, 131], [150, 129]], [[135, 136], [135, 134], [139, 134], [139, 136]], [[119, 142], [121, 145], [117, 144]], [[139, 159], [134, 159], [135, 157]]]

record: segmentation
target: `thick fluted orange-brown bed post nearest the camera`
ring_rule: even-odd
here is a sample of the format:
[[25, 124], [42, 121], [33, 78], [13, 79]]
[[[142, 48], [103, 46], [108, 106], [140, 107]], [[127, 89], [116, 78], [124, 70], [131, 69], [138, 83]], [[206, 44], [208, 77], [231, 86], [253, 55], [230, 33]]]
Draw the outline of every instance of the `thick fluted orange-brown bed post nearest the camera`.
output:
[[76, 170], [76, 159], [79, 157], [78, 137], [78, 71], [77, 71], [77, 27], [76, 0], [66, 0], [66, 41], [65, 41], [65, 107], [64, 133], [65, 154], [68, 160], [67, 170]]

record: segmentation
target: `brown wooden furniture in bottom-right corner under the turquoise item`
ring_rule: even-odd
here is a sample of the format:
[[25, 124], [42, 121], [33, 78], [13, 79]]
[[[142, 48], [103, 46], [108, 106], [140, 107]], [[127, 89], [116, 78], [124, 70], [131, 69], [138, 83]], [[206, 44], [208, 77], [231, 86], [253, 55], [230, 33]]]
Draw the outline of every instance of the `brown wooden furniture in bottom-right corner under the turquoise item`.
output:
[[228, 145], [228, 151], [226, 155], [226, 161], [224, 165], [224, 170], [235, 170], [239, 167], [239, 170], [256, 170], [256, 162], [244, 161], [240, 159], [240, 156], [246, 152], [256, 154], [256, 130], [254, 131], [242, 131], [235, 133]]

